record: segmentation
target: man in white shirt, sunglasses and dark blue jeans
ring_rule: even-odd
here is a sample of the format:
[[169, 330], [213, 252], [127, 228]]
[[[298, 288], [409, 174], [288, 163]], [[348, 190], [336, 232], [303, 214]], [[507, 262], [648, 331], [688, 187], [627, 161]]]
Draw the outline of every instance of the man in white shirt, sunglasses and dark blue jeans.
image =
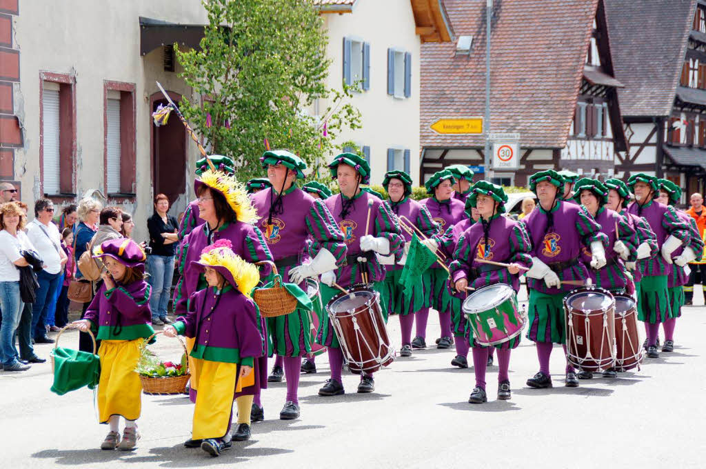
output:
[[[59, 229], [52, 223], [54, 203], [48, 198], [35, 202], [35, 219], [28, 225], [27, 237], [44, 261], [44, 270], [37, 274], [37, 299], [32, 304], [32, 334], [35, 343], [54, 343], [47, 337], [47, 313], [61, 285], [61, 270], [66, 263], [66, 253], [61, 249]], [[49, 321], [54, 325], [54, 318]]]

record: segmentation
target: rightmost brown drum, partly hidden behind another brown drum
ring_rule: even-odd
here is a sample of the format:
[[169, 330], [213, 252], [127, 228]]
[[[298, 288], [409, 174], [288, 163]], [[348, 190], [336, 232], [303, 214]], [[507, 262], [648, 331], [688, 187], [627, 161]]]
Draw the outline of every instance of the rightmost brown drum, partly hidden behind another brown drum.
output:
[[616, 372], [638, 367], [645, 357], [638, 328], [638, 304], [630, 295], [614, 295], [616, 299]]

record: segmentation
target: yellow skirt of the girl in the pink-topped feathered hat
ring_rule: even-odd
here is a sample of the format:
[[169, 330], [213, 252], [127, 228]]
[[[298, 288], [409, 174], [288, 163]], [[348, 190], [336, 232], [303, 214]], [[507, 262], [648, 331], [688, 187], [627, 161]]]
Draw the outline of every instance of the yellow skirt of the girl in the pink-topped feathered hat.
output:
[[244, 379], [237, 379], [238, 365], [235, 363], [200, 358], [194, 358], [193, 363], [191, 379], [196, 376], [199, 388], [193, 409], [191, 438], [221, 438], [229, 430], [234, 394], [243, 386], [252, 386], [255, 376], [251, 372]]

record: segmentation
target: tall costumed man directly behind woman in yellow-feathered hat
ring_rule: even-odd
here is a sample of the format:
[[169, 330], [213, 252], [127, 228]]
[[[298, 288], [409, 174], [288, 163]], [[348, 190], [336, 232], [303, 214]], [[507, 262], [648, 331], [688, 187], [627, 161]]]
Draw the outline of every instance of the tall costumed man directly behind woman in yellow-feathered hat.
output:
[[[263, 153], [261, 162], [272, 186], [252, 196], [258, 213], [256, 226], [265, 234], [282, 281], [299, 284], [306, 291], [306, 278], [332, 271], [345, 259], [343, 235], [323, 201], [295, 184], [297, 178], [304, 178], [306, 170], [301, 158], [287, 150], [272, 150]], [[313, 241], [312, 259], [305, 251], [308, 239]], [[283, 358], [287, 377], [282, 420], [299, 417], [301, 357], [311, 352], [310, 314], [297, 308], [292, 313], [267, 319], [273, 350], [277, 357]]]

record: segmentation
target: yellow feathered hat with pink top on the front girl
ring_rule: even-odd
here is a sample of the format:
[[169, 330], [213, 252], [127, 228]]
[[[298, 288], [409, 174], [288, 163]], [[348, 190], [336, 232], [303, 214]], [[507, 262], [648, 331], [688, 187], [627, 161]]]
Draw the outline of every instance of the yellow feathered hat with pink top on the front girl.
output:
[[227, 283], [240, 290], [246, 297], [250, 297], [253, 288], [260, 281], [260, 272], [257, 266], [235, 254], [231, 247], [229, 240], [219, 239], [203, 248], [201, 258], [192, 263], [202, 271], [205, 267], [214, 268], [223, 275]]

